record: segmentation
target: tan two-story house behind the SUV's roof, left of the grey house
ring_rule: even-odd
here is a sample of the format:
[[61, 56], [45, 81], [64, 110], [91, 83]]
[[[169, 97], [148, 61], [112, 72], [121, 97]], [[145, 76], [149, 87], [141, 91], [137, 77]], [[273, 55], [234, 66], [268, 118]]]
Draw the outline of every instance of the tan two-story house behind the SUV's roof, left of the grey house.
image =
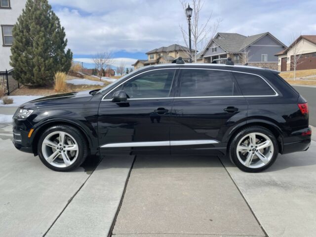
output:
[[189, 62], [188, 57], [189, 48], [179, 44], [172, 44], [167, 47], [155, 48], [146, 54], [148, 60], [137, 60], [132, 66], [138, 69], [148, 65], [171, 63], [174, 59], [182, 57], [185, 62]]

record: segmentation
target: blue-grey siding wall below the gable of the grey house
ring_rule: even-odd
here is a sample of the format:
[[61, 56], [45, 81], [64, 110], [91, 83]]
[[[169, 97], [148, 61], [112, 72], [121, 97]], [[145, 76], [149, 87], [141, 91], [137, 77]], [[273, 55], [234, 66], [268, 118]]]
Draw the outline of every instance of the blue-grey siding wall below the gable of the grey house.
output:
[[268, 54], [268, 62], [277, 62], [275, 54], [283, 50], [282, 46], [256, 46], [251, 45], [249, 50], [249, 62], [261, 62], [261, 54]]

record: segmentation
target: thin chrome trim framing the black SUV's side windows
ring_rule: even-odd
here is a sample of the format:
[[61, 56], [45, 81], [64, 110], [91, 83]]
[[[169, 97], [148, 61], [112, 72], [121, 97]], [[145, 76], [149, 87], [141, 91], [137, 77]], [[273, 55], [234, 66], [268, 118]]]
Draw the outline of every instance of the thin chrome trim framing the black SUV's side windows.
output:
[[135, 98], [135, 99], [128, 99], [129, 100], [157, 100], [157, 99], [192, 99], [192, 98], [230, 98], [230, 97], [276, 97], [279, 94], [276, 92], [276, 90], [270, 85], [270, 83], [264, 79], [263, 77], [261, 77], [258, 74], [254, 74], [254, 73], [246, 73], [246, 72], [238, 72], [238, 71], [233, 71], [233, 70], [225, 70], [225, 69], [212, 69], [212, 68], [159, 68], [159, 69], [153, 69], [153, 70], [149, 70], [146, 72], [142, 72], [140, 74], [137, 74], [123, 82], [121, 82], [120, 84], [118, 84], [115, 88], [113, 88], [112, 90], [110, 90], [108, 93], [106, 93], [103, 97], [101, 101], [111, 101], [111, 99], [104, 99], [104, 97], [106, 97], [108, 94], [110, 94], [114, 89], [116, 89], [118, 86], [120, 86], [121, 84], [123, 84], [124, 82], [138, 76], [141, 75], [143, 73], [147, 73], [147, 72], [152, 72], [152, 71], [156, 71], [156, 70], [165, 70], [165, 69], [194, 69], [194, 70], [213, 70], [213, 71], [225, 71], [225, 72], [232, 72], [232, 73], [243, 73], [243, 74], [249, 74], [249, 75], [254, 75], [257, 76], [261, 79], [263, 79], [269, 86], [270, 88], [275, 92], [275, 95], [230, 95], [230, 96], [192, 96], [192, 97], [161, 97], [161, 98]]

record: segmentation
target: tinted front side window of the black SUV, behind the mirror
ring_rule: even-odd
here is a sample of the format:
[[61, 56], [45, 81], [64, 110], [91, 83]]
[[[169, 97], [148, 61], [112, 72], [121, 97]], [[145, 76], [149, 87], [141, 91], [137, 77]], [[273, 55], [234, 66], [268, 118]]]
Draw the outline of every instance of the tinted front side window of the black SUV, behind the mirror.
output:
[[106, 99], [111, 99], [118, 90], [124, 90], [131, 99], [169, 97], [174, 73], [174, 69], [143, 73], [118, 86]]

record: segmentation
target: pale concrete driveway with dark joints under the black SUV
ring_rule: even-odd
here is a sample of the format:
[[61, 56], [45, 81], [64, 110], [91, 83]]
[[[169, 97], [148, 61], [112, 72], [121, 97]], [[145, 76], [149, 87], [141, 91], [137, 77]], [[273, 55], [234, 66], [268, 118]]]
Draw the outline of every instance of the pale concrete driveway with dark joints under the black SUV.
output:
[[[0, 128], [0, 236], [306, 237], [316, 233], [316, 142], [262, 173], [228, 158], [90, 158], [54, 172]], [[1, 126], [0, 126], [1, 127]], [[123, 198], [121, 198], [123, 197]]]

